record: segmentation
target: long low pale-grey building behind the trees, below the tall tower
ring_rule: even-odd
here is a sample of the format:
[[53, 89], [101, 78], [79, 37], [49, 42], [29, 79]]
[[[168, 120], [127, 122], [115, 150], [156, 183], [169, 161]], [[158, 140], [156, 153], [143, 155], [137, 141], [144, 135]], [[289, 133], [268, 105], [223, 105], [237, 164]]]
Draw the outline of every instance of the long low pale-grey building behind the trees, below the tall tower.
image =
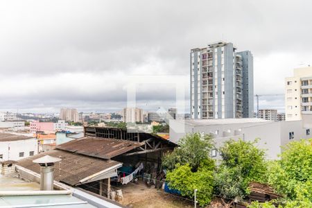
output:
[[257, 147], [266, 150], [267, 159], [278, 159], [281, 146], [290, 141], [311, 138], [311, 128], [306, 128], [304, 121], [266, 121], [263, 119], [198, 119], [190, 121], [170, 121], [170, 141], [177, 143], [188, 133], [205, 133], [212, 135], [215, 149], [211, 157], [221, 159], [218, 148], [229, 139], [254, 141], [259, 139]]

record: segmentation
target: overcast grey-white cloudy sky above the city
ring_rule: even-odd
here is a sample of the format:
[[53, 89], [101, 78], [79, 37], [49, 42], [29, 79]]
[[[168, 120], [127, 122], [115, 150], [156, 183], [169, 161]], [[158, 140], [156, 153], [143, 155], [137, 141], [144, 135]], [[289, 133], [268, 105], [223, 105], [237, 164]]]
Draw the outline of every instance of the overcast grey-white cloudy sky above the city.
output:
[[[120, 110], [129, 76], [188, 80], [190, 49], [217, 40], [252, 51], [255, 94], [283, 94], [293, 68], [312, 63], [311, 6], [285, 0], [0, 0], [0, 110]], [[137, 103], [146, 110], [175, 106], [174, 86], [140, 85]], [[284, 110], [284, 98], [263, 97], [260, 106]]]

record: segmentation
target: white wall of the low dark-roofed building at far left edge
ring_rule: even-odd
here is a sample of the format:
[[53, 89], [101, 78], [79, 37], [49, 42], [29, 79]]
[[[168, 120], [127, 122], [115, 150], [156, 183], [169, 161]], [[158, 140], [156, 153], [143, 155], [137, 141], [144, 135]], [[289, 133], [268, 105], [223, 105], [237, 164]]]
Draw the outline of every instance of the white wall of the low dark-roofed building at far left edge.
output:
[[[0, 141], [0, 161], [19, 160], [30, 156], [31, 151], [34, 155], [38, 153], [37, 139], [25, 139], [17, 141]], [[24, 157], [19, 157], [19, 153], [24, 153]]]

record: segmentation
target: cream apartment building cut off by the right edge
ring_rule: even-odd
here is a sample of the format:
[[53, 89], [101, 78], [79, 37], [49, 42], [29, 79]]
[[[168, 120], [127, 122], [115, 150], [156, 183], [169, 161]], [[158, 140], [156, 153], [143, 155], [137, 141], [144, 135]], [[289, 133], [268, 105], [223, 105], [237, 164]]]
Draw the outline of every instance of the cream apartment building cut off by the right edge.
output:
[[312, 117], [312, 67], [294, 69], [294, 76], [285, 79], [286, 121]]

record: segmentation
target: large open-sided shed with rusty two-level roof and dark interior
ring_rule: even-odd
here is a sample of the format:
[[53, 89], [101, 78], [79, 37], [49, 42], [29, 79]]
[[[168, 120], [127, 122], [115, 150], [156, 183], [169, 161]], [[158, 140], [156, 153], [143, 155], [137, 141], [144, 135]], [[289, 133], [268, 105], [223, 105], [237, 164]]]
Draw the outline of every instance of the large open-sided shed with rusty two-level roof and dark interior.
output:
[[[161, 171], [162, 156], [176, 145], [170, 141], [143, 132], [127, 132], [119, 128], [85, 128], [85, 137], [74, 139], [45, 153], [19, 160], [18, 165], [35, 173], [40, 167], [34, 159], [49, 155], [62, 159], [55, 163], [55, 180], [89, 189], [94, 193], [114, 199], [116, 191], [110, 186], [111, 178], [125, 178], [127, 170], [144, 171], [155, 177]], [[131, 173], [132, 174], [132, 173]], [[130, 176], [131, 176], [130, 174]], [[132, 181], [121, 180], [123, 184]], [[132, 175], [133, 176], [133, 175]]]

